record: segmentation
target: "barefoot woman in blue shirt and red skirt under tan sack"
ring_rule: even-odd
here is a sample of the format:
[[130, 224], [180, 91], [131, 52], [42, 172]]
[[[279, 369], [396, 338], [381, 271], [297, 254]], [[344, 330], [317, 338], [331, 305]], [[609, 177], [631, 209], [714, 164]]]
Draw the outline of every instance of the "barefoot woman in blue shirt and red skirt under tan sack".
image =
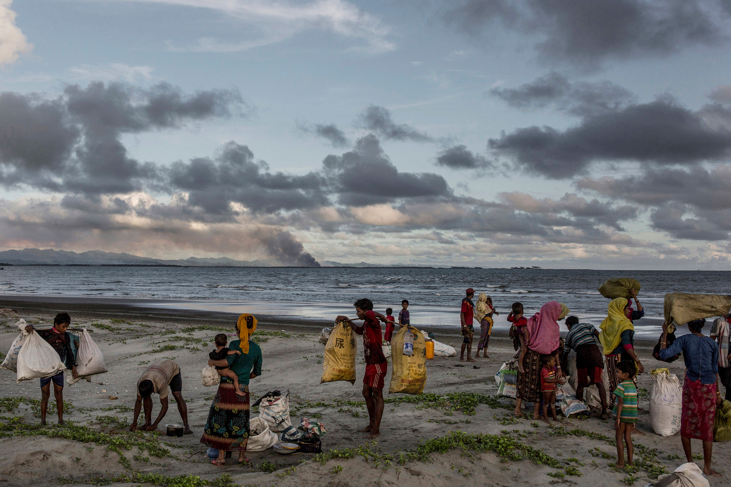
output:
[[[667, 338], [667, 321], [662, 325], [662, 338]], [[670, 348], [660, 342], [660, 358], [683, 353], [686, 366], [683, 381], [683, 413], [681, 414], [681, 442], [686, 459], [693, 461], [691, 439], [703, 442], [703, 473], [718, 477], [711, 469], [713, 449], [713, 419], [716, 406], [721, 405], [719, 391], [719, 345], [701, 333], [705, 319], [688, 322], [689, 334], [678, 337]]]

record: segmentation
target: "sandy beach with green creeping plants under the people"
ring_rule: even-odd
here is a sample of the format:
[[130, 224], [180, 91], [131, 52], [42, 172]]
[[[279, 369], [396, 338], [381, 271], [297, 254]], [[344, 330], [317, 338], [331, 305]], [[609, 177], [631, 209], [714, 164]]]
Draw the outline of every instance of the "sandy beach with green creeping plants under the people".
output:
[[[428, 361], [425, 396], [388, 395], [382, 435], [376, 443], [368, 442], [363, 434], [357, 433], [368, 421], [360, 394], [360, 379], [365, 370], [362, 343], [355, 386], [344, 382], [320, 384], [324, 345], [318, 342], [318, 334], [322, 326], [330, 323], [287, 322], [276, 316], [261, 315], [255, 337], [260, 342], [264, 361], [262, 375], [251, 380], [251, 400], [254, 402], [267, 391], [289, 389], [295, 425], [303, 417], [317, 418], [325, 424], [324, 454], [316, 460], [314, 454], [306, 453], [281, 456], [273, 450], [249, 452], [250, 467], [239, 467], [235, 459], [230, 459], [225, 467], [215, 467], [208, 463], [205, 447], [199, 442], [215, 388], [202, 386], [200, 370], [213, 348], [212, 339], [220, 332], [219, 327], [233, 333], [235, 315], [141, 309], [112, 301], [90, 304], [61, 298], [34, 302], [4, 299], [0, 307], [18, 312], [0, 315], [3, 352], [18, 334], [14, 326], [18, 318], [25, 318], [39, 328], [50, 327], [55, 312], [63, 308], [72, 315], [72, 327], [86, 326], [94, 330], [94, 340], [104, 353], [109, 370], [92, 377], [91, 382], [82, 380], [64, 388], [64, 400], [70, 403], [65, 418], [78, 427], [75, 434], [69, 434], [69, 429], [53, 426], [55, 412], [48, 415], [53, 421], [49, 421], [47, 429], [37, 426], [39, 418], [33, 407], [33, 399], [40, 398], [37, 380], [16, 385], [15, 374], [0, 369], [3, 405], [0, 448], [7, 452], [0, 457], [0, 485], [51, 486], [69, 481], [87, 485], [103, 480], [118, 486], [136, 486], [148, 481], [183, 486], [188, 484], [170, 483], [162, 476], [195, 475], [204, 481], [220, 481], [221, 475], [227, 474], [236, 485], [262, 487], [401, 483], [617, 486], [631, 483], [633, 479], [636, 479], [635, 486], [644, 486], [658, 472], [663, 469], [672, 472], [684, 462], [677, 435], [666, 438], [652, 432], [646, 392], [640, 393], [637, 425], [645, 435], [634, 438], [635, 459], [642, 458], [643, 467], [632, 472], [610, 466], [616, 455], [610, 421], [571, 419], [549, 426], [532, 419], [512, 418], [512, 399], [495, 397], [493, 375], [515, 353], [510, 340], [499, 334], [491, 340], [491, 358], [480, 358], [476, 364], [463, 364], [456, 357]], [[345, 308], [344, 312], [349, 310]], [[436, 340], [458, 349], [461, 340], [454, 329], [433, 331]], [[683, 375], [682, 361], [663, 364], [651, 358], [651, 342], [637, 345], [646, 369], [669, 367], [679, 377]], [[164, 423], [180, 421], [177, 409], [171, 404], [159, 427], [159, 437], [137, 434], [133, 438], [135, 435], [126, 433], [126, 425], [132, 421], [137, 377], [146, 364], [162, 357], [174, 358], [181, 366], [183, 397], [194, 434], [181, 438], [164, 436]], [[390, 372], [385, 391], [389, 382]], [[640, 375], [639, 385], [649, 388], [648, 374]], [[473, 395], [447, 396], [455, 393]], [[468, 397], [477, 399], [474, 401], [477, 404], [466, 402]], [[23, 402], [26, 398], [28, 402]], [[156, 396], [154, 402], [156, 415], [159, 407]], [[473, 407], [474, 414], [465, 414], [473, 412], [470, 411]], [[257, 415], [256, 410], [251, 415]], [[694, 453], [700, 453], [700, 442], [694, 442], [693, 446]], [[357, 448], [360, 450], [353, 450]], [[515, 452], [526, 458], [518, 459]], [[508, 458], [511, 455], [514, 458]], [[711, 479], [712, 486], [728, 485], [731, 469], [726, 465], [730, 460], [728, 448], [723, 444], [714, 445], [713, 464], [724, 478]], [[133, 472], [138, 472], [137, 477]], [[140, 476], [146, 474], [162, 476]]]

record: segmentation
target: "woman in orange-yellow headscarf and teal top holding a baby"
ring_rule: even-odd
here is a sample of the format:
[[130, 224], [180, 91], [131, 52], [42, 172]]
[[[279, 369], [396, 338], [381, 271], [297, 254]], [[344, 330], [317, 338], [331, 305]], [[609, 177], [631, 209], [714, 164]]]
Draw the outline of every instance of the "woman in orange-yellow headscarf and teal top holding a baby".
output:
[[238, 317], [236, 323], [240, 340], [232, 340], [229, 350], [238, 351], [221, 360], [208, 359], [209, 366], [230, 367], [238, 376], [243, 396], [236, 394], [233, 380], [221, 376], [221, 383], [208, 412], [203, 436], [200, 442], [209, 448], [219, 450], [219, 457], [211, 461], [214, 465], [226, 463], [227, 451], [238, 451], [238, 461], [246, 459], [246, 444], [249, 441], [249, 380], [262, 375], [262, 349], [250, 340], [257, 329], [257, 318], [249, 313]]

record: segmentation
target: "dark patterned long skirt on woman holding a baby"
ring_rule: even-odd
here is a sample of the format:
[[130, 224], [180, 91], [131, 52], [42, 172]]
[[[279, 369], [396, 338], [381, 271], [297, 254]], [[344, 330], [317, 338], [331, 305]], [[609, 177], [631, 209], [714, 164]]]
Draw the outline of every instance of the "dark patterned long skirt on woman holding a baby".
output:
[[249, 442], [249, 387], [238, 396], [232, 380], [221, 377], [200, 442], [224, 451], [246, 451]]

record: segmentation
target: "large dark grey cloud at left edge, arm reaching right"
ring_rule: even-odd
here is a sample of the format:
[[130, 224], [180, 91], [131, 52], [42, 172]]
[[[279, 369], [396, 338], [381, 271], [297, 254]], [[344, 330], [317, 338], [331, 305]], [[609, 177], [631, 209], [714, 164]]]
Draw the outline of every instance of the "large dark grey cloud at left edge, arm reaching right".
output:
[[137, 161], [123, 134], [178, 128], [230, 116], [245, 107], [236, 91], [183, 93], [167, 83], [70, 85], [56, 100], [0, 94], [0, 184], [71, 193], [137, 191], [159, 179], [154, 164]]

